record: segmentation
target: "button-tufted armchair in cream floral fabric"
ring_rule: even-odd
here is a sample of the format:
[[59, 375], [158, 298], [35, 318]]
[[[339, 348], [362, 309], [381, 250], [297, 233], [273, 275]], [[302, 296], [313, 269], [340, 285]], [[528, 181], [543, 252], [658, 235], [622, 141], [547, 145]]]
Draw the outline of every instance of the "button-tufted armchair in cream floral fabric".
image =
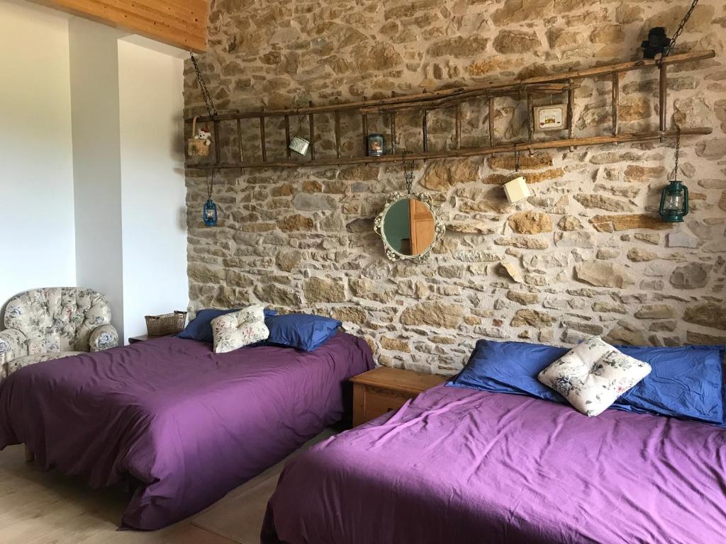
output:
[[7, 303], [0, 331], [0, 380], [23, 366], [118, 345], [105, 296], [92, 289], [52, 287]]

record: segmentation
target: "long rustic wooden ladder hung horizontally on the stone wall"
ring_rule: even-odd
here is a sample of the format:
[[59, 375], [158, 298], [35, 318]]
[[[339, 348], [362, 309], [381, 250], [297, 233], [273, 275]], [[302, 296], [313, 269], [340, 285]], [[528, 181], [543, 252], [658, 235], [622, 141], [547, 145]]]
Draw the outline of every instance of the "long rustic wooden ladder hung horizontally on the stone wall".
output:
[[[471, 157], [502, 152], [515, 152], [536, 149], [571, 148], [579, 146], [602, 145], [612, 143], [625, 143], [629, 141], [645, 141], [676, 136], [702, 135], [711, 133], [710, 127], [696, 127], [682, 130], [666, 130], [667, 124], [667, 88], [668, 88], [668, 66], [686, 62], [698, 62], [704, 59], [715, 57], [715, 51], [694, 51], [690, 53], [674, 54], [664, 59], [643, 59], [633, 62], [621, 62], [615, 65], [605, 65], [587, 68], [584, 70], [570, 70], [567, 73], [542, 75], [534, 78], [526, 78], [512, 83], [492, 83], [484, 86], [457, 87], [429, 93], [412, 94], [408, 96], [393, 96], [383, 99], [364, 99], [362, 102], [335, 103], [325, 106], [315, 106], [312, 102], [308, 107], [301, 107], [289, 110], [256, 110], [251, 112], [226, 112], [215, 117], [199, 117], [197, 122], [212, 123], [214, 133], [214, 153], [208, 162], [186, 163], [187, 168], [219, 169], [219, 168], [299, 168], [299, 167], [326, 167], [334, 165], [362, 165], [378, 162], [394, 162], [401, 160], [401, 155], [396, 154], [396, 121], [401, 112], [419, 111], [421, 115], [421, 143], [422, 151], [407, 152], [407, 160], [428, 160], [448, 157]], [[619, 129], [619, 104], [620, 104], [620, 78], [623, 73], [633, 70], [658, 70], [658, 131], [623, 133]], [[612, 123], [611, 133], [600, 136], [576, 137], [574, 135], [573, 107], [574, 89], [579, 86], [577, 83], [586, 78], [610, 78], [612, 84]], [[537, 96], [567, 93], [568, 125], [567, 137], [552, 140], [534, 139], [533, 99]], [[496, 141], [494, 136], [494, 111], [495, 100], [502, 97], [513, 97], [527, 104], [528, 133], [526, 139], [518, 141]], [[475, 99], [486, 100], [489, 108], [489, 135], [486, 146], [462, 147], [461, 145], [461, 123], [462, 104]], [[442, 107], [454, 106], [454, 138], [452, 149], [439, 151], [429, 150], [428, 138], [428, 116], [433, 110]], [[363, 137], [362, 155], [356, 157], [343, 157], [341, 154], [341, 133], [340, 115], [348, 113], [360, 115], [361, 131]], [[316, 150], [317, 133], [315, 131], [315, 115], [333, 115], [333, 131], [335, 132], [335, 157], [320, 157]], [[367, 155], [368, 137], [368, 116], [385, 115], [388, 117], [388, 130], [390, 131], [391, 153], [378, 157]], [[290, 152], [290, 117], [307, 116], [309, 125], [309, 160], [294, 160]], [[265, 125], [271, 118], [283, 118], [285, 126], [285, 159], [268, 160], [266, 147]], [[192, 117], [185, 118], [185, 123], [192, 123]], [[261, 160], [245, 160], [245, 153], [242, 149], [243, 133], [242, 122], [245, 120], [257, 119], [259, 122], [259, 139]], [[221, 160], [221, 149], [219, 137], [221, 123], [236, 122], [237, 131], [237, 157], [234, 162], [223, 162]], [[302, 157], [301, 157], [302, 158]]]

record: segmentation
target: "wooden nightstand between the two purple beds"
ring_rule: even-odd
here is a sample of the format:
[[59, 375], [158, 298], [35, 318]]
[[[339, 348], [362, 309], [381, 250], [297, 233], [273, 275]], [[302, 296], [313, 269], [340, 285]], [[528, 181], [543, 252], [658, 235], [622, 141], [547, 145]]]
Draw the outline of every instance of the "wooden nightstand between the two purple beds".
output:
[[387, 366], [353, 376], [353, 426], [398, 410], [407, 400], [447, 379]]

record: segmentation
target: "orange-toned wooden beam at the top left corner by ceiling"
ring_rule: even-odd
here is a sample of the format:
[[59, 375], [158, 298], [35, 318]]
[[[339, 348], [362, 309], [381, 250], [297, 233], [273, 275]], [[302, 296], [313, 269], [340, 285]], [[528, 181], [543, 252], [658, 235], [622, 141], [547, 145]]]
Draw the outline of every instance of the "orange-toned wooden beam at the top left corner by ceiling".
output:
[[207, 49], [207, 0], [33, 0], [197, 53]]

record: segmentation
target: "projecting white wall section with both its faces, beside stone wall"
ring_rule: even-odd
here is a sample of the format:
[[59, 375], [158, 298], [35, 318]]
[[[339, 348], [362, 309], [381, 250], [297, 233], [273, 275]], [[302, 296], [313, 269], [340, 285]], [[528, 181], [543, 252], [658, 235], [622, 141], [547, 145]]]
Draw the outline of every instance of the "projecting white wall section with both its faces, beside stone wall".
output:
[[121, 337], [188, 302], [179, 54], [73, 19], [70, 86], [78, 284], [103, 292]]

